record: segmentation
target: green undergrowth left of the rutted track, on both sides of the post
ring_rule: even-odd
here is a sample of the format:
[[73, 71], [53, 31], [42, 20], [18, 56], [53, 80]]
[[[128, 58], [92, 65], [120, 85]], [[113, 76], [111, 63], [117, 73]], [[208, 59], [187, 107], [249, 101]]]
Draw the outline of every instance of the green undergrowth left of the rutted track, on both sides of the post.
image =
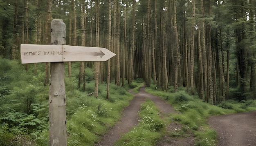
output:
[[[49, 85], [44, 86], [45, 63], [22, 65], [0, 58], [0, 146], [48, 146]], [[67, 63], [65, 63], [67, 66]], [[85, 68], [85, 91], [78, 87], [79, 62], [72, 62], [68, 77], [65, 67], [67, 145], [92, 146], [115, 125], [122, 110], [129, 105], [131, 89], [110, 84], [106, 99], [106, 83], [99, 84], [99, 97], [94, 94], [94, 70]], [[25, 70], [27, 69], [27, 71]], [[141, 85], [132, 82], [133, 88]]]

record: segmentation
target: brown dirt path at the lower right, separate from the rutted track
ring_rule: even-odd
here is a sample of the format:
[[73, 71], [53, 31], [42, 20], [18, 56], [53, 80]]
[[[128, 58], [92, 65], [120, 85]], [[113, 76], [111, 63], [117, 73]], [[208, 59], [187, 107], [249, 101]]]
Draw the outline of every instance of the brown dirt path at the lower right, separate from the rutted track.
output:
[[256, 111], [211, 116], [208, 122], [218, 133], [219, 146], [256, 146]]

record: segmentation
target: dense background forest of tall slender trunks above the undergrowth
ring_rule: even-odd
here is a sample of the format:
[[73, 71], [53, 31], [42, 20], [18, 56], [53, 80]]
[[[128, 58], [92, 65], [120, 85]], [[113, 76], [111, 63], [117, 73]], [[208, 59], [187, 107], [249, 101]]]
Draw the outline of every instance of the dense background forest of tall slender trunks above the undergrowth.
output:
[[[0, 55], [20, 61], [20, 44], [50, 44], [51, 21], [62, 19], [67, 45], [117, 54], [81, 64], [95, 66], [96, 82], [124, 86], [143, 78], [163, 91], [186, 87], [211, 104], [256, 99], [255, 6], [252, 0], [0, 0]], [[43, 84], [48, 80], [46, 63]]]

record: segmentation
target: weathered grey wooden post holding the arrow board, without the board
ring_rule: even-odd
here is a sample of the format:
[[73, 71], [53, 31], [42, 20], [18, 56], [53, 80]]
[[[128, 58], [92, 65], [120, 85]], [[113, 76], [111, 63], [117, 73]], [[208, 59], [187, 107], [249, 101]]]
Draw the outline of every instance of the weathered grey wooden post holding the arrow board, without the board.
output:
[[[66, 44], [66, 24], [54, 19], [51, 44]], [[49, 83], [49, 146], [67, 146], [64, 63], [51, 62]]]

